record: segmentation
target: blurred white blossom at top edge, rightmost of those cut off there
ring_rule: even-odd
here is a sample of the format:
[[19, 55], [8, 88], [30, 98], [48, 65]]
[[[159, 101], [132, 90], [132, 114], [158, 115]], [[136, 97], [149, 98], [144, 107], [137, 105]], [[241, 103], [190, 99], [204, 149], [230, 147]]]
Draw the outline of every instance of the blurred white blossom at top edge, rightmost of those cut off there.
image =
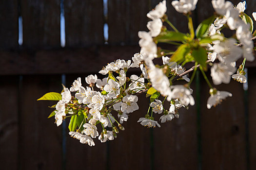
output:
[[212, 0], [212, 4], [215, 11], [222, 16], [224, 16], [227, 13], [227, 10], [233, 8], [234, 6], [232, 2], [225, 0]]

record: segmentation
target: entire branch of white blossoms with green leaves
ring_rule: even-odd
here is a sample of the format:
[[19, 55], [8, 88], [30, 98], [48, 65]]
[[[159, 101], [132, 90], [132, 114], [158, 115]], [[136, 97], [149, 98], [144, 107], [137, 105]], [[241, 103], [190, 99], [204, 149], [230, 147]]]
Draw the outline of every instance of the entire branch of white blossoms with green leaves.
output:
[[[174, 0], [175, 10], [188, 19], [190, 34], [183, 34], [165, 15], [166, 0], [163, 0], [147, 14], [151, 19], [147, 23], [149, 31], [138, 32], [140, 52], [134, 54], [132, 60], [118, 59], [102, 68], [99, 73], [106, 75], [103, 79], [89, 75], [85, 78], [87, 86], [83, 86], [79, 77], [70, 88], [64, 87], [59, 94], [59, 102], [54, 106], [55, 111], [49, 117], [55, 116], [57, 126], [70, 117], [69, 135], [83, 144], [94, 146], [95, 138], [106, 142], [116, 138], [119, 130], [124, 130], [123, 122], [139, 109], [138, 95], [145, 93], [150, 101], [148, 111], [138, 122], [149, 128], [160, 127], [158, 122], [178, 119], [180, 108], [188, 109], [189, 105], [195, 104], [190, 85], [197, 68], [209, 85], [207, 108], [216, 106], [232, 94], [213, 87], [205, 71], [210, 68], [214, 85], [228, 84], [231, 77], [246, 83], [245, 61], [254, 60], [256, 32], [252, 34], [253, 21], [244, 13], [245, 3], [240, 2], [235, 7], [230, 1], [212, 0], [217, 15], [199, 24], [195, 34], [191, 13], [197, 0]], [[256, 18], [256, 13], [253, 17]], [[167, 30], [163, 22], [169, 24], [173, 31]], [[235, 30], [236, 34], [226, 38], [223, 29]], [[173, 44], [177, 50], [162, 49], [159, 42]], [[236, 62], [241, 57], [244, 60], [236, 69]], [[155, 65], [155, 58], [161, 58], [162, 64], [158, 61]], [[195, 66], [186, 70], [184, 65], [189, 62]], [[140, 68], [139, 76], [128, 77], [129, 68]], [[43, 100], [52, 99], [46, 99], [46, 96]], [[164, 102], [168, 103], [167, 108]], [[159, 120], [155, 120], [156, 114], [160, 115]]]

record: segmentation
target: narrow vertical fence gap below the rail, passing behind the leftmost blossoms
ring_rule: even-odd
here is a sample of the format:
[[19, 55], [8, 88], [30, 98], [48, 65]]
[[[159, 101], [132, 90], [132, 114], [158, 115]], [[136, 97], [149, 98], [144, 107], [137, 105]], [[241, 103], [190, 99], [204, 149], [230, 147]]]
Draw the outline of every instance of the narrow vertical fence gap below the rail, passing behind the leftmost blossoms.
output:
[[[61, 83], [66, 85], [66, 75], [61, 75]], [[66, 170], [66, 121], [62, 122], [62, 170]]]

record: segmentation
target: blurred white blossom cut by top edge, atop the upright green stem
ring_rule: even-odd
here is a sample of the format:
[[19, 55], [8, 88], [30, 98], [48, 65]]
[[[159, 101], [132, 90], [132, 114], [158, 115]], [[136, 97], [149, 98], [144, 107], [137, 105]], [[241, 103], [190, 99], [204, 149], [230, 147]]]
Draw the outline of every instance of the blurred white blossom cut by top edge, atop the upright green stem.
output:
[[172, 5], [179, 13], [187, 14], [196, 9], [197, 0], [173, 0]]

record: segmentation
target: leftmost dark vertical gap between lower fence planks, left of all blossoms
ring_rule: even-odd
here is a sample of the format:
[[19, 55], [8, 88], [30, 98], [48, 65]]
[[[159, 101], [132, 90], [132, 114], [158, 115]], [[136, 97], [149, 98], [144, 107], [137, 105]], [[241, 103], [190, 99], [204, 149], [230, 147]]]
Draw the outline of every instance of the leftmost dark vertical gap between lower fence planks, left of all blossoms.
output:
[[[18, 143], [21, 141], [21, 135], [20, 135], [20, 118], [21, 118], [21, 91], [22, 91], [22, 82], [23, 82], [23, 76], [19, 76], [19, 85], [18, 85]], [[21, 145], [18, 145], [18, 170], [21, 170], [21, 161], [20, 158], [21, 154]]]

